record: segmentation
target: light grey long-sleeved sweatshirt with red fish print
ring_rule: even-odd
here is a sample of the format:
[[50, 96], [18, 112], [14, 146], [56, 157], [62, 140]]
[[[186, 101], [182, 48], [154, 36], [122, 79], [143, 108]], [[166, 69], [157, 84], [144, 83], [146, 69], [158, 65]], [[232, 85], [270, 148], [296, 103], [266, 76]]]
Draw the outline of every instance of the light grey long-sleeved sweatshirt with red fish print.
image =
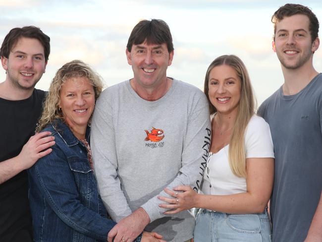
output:
[[139, 207], [151, 219], [147, 231], [168, 242], [193, 238], [194, 216], [169, 216], [159, 207], [164, 187], [198, 190], [210, 146], [206, 96], [173, 79], [157, 101], [139, 97], [127, 80], [102, 92], [92, 121], [94, 170], [104, 204], [118, 222]]

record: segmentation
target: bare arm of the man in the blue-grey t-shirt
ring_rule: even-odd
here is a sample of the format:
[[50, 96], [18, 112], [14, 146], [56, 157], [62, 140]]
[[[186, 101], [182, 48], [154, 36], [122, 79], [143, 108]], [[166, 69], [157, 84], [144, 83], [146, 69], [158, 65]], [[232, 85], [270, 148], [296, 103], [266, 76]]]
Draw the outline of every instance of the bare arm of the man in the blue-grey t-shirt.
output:
[[322, 241], [322, 192], [320, 202], [315, 211], [308, 235], [305, 242], [321, 242]]

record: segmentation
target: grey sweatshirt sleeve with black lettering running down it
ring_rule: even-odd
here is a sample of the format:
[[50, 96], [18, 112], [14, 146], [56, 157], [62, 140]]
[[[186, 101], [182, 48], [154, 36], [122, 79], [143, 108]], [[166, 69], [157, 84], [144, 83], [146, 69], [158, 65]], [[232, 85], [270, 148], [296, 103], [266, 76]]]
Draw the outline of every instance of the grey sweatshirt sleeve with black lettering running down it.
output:
[[[166, 187], [173, 189], [179, 185], [190, 185], [197, 191], [206, 167], [211, 142], [209, 106], [206, 96], [201, 92], [198, 92], [192, 100], [186, 129], [181, 154], [181, 169]], [[159, 207], [159, 204], [163, 203], [158, 199], [159, 195], [170, 197], [162, 190], [160, 194], [141, 206], [148, 213], [151, 222], [168, 216], [163, 214], [167, 209]]]

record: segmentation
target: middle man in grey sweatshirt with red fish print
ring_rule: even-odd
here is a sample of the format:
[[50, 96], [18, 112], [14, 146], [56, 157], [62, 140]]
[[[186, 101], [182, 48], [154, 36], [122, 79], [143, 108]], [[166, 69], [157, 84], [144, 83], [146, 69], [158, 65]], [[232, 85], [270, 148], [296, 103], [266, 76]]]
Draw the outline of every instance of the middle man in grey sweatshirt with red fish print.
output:
[[168, 25], [140, 21], [126, 48], [134, 78], [107, 88], [96, 104], [94, 170], [107, 211], [118, 222], [109, 242], [131, 242], [143, 230], [167, 242], [193, 238], [193, 214], [164, 215], [158, 199], [167, 196], [165, 187], [198, 190], [211, 138], [206, 96], [166, 76], [173, 54]]

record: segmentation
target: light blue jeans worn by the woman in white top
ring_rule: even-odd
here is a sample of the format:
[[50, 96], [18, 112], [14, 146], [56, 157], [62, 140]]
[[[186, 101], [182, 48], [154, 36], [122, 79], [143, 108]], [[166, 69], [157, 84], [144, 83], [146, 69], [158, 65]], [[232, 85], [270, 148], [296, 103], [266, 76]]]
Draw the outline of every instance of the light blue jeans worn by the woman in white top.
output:
[[228, 214], [201, 209], [196, 218], [195, 242], [269, 242], [268, 212]]

